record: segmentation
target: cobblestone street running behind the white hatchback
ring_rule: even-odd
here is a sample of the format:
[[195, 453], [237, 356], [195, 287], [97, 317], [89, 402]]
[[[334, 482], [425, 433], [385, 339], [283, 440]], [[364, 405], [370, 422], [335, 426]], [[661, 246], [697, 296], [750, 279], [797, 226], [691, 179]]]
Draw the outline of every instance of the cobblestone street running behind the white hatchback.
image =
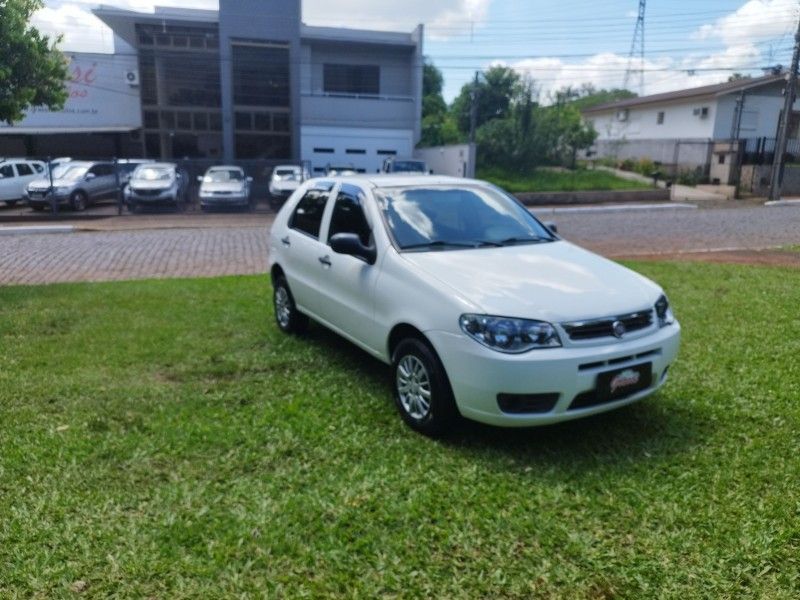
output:
[[[608, 256], [800, 245], [800, 207], [557, 213], [561, 234]], [[269, 218], [258, 226], [0, 236], [0, 284], [263, 273]], [[123, 229], [137, 221], [124, 221]], [[143, 222], [142, 222], [143, 223]], [[219, 226], [213, 226], [214, 224]], [[220, 225], [224, 223], [224, 225]]]

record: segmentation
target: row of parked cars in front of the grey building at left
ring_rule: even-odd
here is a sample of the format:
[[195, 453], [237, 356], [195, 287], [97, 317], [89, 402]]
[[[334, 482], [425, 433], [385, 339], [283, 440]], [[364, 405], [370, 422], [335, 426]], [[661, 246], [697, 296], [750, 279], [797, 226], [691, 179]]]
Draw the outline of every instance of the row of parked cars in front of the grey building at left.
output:
[[[306, 179], [308, 170], [280, 165], [272, 170], [270, 203], [278, 208]], [[197, 177], [197, 198], [203, 210], [252, 206], [253, 178], [236, 165], [210, 167]], [[81, 211], [120, 194], [131, 212], [146, 206], [183, 209], [192, 201], [190, 177], [176, 163], [149, 159], [78, 161], [61, 158], [45, 163], [27, 159], [0, 159], [0, 201], [25, 202], [41, 211], [57, 204]]]

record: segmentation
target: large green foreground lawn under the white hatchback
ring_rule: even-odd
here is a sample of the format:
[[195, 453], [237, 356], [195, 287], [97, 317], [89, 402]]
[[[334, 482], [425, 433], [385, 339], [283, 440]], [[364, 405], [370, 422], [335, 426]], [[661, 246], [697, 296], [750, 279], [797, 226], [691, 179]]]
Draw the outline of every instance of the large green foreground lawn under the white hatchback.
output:
[[266, 277], [0, 289], [0, 597], [797, 598], [800, 272], [633, 266], [662, 392], [440, 442]]

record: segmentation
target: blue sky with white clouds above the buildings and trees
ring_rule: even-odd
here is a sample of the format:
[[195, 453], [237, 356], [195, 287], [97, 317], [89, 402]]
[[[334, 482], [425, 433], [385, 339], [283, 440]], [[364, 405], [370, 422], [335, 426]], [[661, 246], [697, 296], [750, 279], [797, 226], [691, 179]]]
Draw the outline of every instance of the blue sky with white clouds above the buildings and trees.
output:
[[[217, 8], [217, 0], [105, 0], [150, 11], [154, 4]], [[111, 52], [110, 31], [90, 12], [95, 2], [47, 0], [35, 17], [63, 34], [67, 51]], [[510, 66], [536, 83], [543, 102], [557, 89], [590, 83], [622, 87], [638, 0], [304, 0], [311, 25], [410, 31], [425, 25], [425, 55], [445, 78], [450, 101], [476, 70]], [[800, 0], [649, 0], [645, 18], [646, 94], [758, 75], [791, 62]], [[637, 58], [633, 66], [642, 69]]]

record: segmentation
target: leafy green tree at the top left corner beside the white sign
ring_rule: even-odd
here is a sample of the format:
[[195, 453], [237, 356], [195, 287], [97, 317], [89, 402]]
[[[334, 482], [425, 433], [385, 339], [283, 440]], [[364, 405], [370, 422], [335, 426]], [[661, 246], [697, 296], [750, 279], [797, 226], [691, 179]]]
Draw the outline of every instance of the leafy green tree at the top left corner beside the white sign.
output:
[[43, 0], [0, 0], [0, 122], [11, 125], [31, 106], [64, 107], [67, 62], [50, 40], [30, 25]]

